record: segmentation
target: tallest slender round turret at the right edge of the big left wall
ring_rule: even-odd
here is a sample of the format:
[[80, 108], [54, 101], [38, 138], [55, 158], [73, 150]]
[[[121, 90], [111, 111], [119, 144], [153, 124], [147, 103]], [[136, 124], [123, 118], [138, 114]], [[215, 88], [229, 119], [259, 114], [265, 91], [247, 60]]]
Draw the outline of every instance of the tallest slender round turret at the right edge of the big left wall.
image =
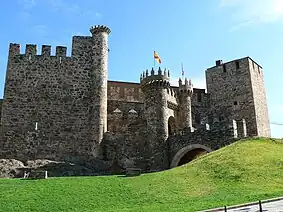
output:
[[92, 106], [94, 142], [99, 144], [107, 131], [107, 80], [108, 80], [108, 35], [106, 26], [93, 26], [92, 34]]

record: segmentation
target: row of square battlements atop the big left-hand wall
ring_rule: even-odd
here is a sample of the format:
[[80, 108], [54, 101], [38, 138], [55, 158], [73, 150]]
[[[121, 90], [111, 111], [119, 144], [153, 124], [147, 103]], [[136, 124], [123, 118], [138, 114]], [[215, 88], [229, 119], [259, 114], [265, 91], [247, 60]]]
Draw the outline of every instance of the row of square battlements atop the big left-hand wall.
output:
[[42, 45], [41, 46], [41, 54], [37, 54], [37, 45], [36, 44], [26, 44], [24, 53], [21, 53], [23, 49], [21, 49], [21, 45], [17, 43], [10, 43], [9, 47], [9, 57], [14, 57], [17, 55], [22, 56], [56, 56], [56, 57], [67, 57], [67, 47], [65, 46], [56, 46], [55, 55], [51, 55], [51, 45]]

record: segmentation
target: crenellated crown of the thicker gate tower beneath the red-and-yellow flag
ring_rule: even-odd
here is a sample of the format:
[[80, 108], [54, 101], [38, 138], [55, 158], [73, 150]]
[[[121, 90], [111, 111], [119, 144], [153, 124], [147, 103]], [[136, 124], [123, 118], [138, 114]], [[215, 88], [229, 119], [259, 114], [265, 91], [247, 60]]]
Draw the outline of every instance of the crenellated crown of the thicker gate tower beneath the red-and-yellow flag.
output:
[[161, 68], [158, 68], [157, 74], [155, 74], [154, 68], [151, 69], [150, 75], [148, 73], [148, 69], [141, 74], [140, 77], [140, 84], [144, 86], [146, 84], [166, 84], [170, 86], [170, 73], [169, 70], [167, 71], [166, 68], [162, 72]]

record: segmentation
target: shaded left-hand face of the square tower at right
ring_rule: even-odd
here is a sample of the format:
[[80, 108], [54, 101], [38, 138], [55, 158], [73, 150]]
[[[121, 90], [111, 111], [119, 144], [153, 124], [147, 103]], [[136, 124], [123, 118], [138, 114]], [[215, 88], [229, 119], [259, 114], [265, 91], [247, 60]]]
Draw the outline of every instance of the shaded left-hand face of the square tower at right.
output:
[[220, 64], [206, 71], [210, 96], [210, 123], [216, 120], [245, 119], [247, 133], [257, 135], [256, 111], [249, 71], [249, 59]]

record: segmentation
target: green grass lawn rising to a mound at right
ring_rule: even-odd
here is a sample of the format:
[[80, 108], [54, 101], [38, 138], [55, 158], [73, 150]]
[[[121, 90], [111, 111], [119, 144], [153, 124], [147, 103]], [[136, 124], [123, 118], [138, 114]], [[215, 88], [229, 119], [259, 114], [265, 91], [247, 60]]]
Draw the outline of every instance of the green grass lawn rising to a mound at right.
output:
[[196, 211], [283, 194], [283, 141], [240, 141], [139, 177], [0, 180], [0, 211]]

